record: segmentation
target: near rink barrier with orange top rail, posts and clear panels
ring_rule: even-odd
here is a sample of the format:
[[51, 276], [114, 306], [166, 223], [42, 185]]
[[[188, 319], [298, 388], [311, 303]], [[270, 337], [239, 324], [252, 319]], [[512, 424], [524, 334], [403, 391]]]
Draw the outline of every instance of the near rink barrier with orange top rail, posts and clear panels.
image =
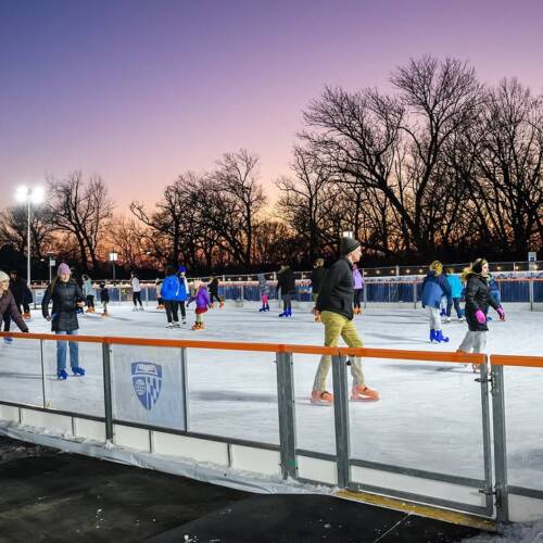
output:
[[[0, 387], [7, 421], [0, 431], [46, 428], [65, 440], [212, 463], [256, 478], [375, 492], [500, 520], [543, 517], [543, 428], [528, 416], [541, 402], [543, 357], [11, 336], [16, 343], [0, 354], [1, 378], [10, 383]], [[79, 342], [85, 378], [56, 381], [58, 340]], [[306, 399], [321, 354], [333, 356], [332, 408]], [[349, 402], [354, 354], [384, 367], [380, 402]], [[437, 363], [447, 364], [440, 382], [428, 383], [437, 390], [414, 397], [416, 376], [399, 370], [417, 364], [420, 372]], [[466, 363], [480, 363], [481, 374], [456, 374]], [[214, 381], [220, 386], [210, 388]], [[513, 392], [528, 383], [529, 401], [507, 397], [508, 381]]]

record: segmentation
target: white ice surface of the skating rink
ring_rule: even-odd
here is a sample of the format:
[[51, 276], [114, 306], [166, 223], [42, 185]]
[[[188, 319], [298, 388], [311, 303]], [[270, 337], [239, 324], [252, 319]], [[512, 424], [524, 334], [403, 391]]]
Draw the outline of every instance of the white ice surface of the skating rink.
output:
[[[132, 312], [129, 305], [112, 305], [109, 318], [80, 317], [79, 333], [323, 344], [324, 327], [314, 323], [310, 305], [294, 306], [288, 320], [278, 318], [276, 303], [269, 313], [257, 308], [210, 311], [206, 329], [194, 332], [192, 308], [186, 326], [166, 329], [165, 313], [154, 307]], [[507, 305], [505, 311], [505, 323], [491, 313], [488, 352], [543, 355], [543, 313], [508, 311]], [[40, 312], [33, 315], [30, 331], [49, 331]], [[424, 310], [368, 308], [355, 323], [366, 346], [412, 351], [455, 351], [467, 330], [465, 323], [445, 324], [450, 343], [430, 344]], [[101, 345], [80, 344], [86, 377], [58, 381], [54, 342], [45, 342], [45, 387], [38, 349], [30, 340], [0, 344], [0, 399], [41, 405], [45, 395], [51, 408], [103, 415]], [[317, 364], [318, 356], [294, 355], [298, 447], [333, 454], [333, 409], [308, 401]], [[365, 359], [363, 365], [367, 384], [381, 400], [350, 404], [354, 458], [483, 478], [478, 375], [453, 363]], [[331, 390], [331, 376], [328, 382]], [[509, 484], [543, 490], [543, 369], [505, 368], [505, 382]], [[274, 353], [189, 349], [188, 383], [191, 431], [278, 443]]]

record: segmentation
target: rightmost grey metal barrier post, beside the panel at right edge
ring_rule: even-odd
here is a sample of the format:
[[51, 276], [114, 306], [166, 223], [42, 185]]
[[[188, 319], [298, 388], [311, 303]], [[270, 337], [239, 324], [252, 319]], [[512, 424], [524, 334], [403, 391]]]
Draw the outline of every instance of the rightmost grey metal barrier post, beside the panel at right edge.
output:
[[[490, 357], [492, 363], [492, 356]], [[496, 495], [496, 520], [509, 520], [507, 491], [507, 446], [505, 431], [504, 368], [491, 366], [492, 375], [492, 426], [494, 431], [494, 472]]]

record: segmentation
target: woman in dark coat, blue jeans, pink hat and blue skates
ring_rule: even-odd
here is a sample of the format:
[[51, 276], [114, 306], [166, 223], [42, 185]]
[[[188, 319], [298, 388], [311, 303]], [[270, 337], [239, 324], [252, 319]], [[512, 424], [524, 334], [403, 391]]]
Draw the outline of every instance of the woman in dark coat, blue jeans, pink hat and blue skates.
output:
[[[52, 300], [52, 315], [49, 315], [49, 302]], [[78, 308], [85, 307], [83, 291], [71, 277], [67, 264], [59, 266], [56, 277], [43, 294], [41, 313], [43, 318], [51, 321], [51, 330], [59, 334], [77, 336], [79, 323], [77, 321]], [[75, 376], [84, 376], [85, 369], [79, 366], [79, 344], [68, 341], [70, 366]], [[56, 377], [66, 380], [66, 341], [56, 341]]]

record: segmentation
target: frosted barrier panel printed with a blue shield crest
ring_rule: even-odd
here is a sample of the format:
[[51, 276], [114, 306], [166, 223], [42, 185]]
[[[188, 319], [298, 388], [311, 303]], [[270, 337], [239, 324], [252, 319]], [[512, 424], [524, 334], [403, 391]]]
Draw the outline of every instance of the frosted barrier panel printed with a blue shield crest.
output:
[[185, 430], [181, 350], [112, 345], [113, 418]]

